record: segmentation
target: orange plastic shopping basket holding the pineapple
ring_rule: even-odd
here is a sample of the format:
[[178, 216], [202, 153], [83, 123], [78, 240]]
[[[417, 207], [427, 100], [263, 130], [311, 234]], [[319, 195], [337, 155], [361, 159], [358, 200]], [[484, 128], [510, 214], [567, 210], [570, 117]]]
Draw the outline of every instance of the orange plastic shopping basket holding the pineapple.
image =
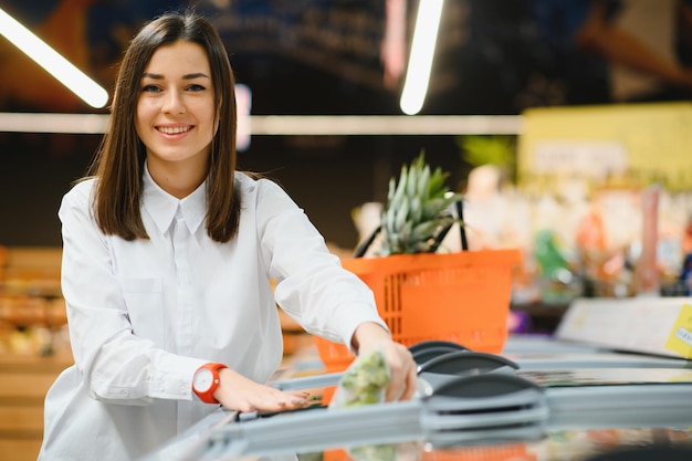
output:
[[[343, 265], [373, 290], [395, 340], [405, 346], [450, 340], [499, 354], [518, 262], [518, 250], [479, 250], [350, 258]], [[327, 371], [344, 370], [355, 358], [343, 344], [314, 338]]]

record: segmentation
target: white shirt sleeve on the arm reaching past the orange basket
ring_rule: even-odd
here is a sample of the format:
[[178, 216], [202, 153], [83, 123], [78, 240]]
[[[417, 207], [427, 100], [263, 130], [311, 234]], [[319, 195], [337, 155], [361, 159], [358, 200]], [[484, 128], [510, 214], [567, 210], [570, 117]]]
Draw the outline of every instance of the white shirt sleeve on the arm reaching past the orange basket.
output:
[[276, 184], [262, 179], [255, 196], [263, 260], [275, 277], [274, 296], [308, 333], [350, 347], [358, 325], [388, 329], [371, 290], [332, 254], [305, 212]]

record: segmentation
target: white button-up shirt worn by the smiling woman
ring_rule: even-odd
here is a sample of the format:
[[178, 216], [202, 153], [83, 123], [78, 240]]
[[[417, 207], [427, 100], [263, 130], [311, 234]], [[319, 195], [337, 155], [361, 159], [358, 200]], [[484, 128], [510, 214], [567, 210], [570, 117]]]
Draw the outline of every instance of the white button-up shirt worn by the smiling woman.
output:
[[385, 326], [371, 291], [287, 193], [235, 179], [242, 212], [228, 243], [207, 234], [205, 185], [178, 200], [145, 171], [149, 240], [130, 242], [97, 228], [93, 179], [65, 195], [62, 289], [75, 365], [48, 392], [41, 460], [133, 460], [156, 449], [218, 409], [191, 390], [207, 362], [265, 383], [283, 353], [276, 304], [346, 344], [363, 322]]

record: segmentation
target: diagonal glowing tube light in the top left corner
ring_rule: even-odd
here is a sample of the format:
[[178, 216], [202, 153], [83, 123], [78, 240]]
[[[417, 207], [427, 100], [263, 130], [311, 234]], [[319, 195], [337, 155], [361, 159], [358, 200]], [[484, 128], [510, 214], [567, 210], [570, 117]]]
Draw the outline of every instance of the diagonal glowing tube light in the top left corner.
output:
[[90, 106], [101, 108], [108, 103], [108, 92], [2, 9], [0, 9], [0, 34]]

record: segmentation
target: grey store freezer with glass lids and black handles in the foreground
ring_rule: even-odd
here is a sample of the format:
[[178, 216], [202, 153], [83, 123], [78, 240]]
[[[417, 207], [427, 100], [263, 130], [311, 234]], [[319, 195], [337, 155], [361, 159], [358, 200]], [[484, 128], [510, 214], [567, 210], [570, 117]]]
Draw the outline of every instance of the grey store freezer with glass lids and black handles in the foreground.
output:
[[311, 389], [301, 410], [219, 409], [145, 461], [692, 460], [685, 359], [564, 350], [505, 355], [428, 342], [409, 401], [328, 408], [342, 374], [277, 380]]

